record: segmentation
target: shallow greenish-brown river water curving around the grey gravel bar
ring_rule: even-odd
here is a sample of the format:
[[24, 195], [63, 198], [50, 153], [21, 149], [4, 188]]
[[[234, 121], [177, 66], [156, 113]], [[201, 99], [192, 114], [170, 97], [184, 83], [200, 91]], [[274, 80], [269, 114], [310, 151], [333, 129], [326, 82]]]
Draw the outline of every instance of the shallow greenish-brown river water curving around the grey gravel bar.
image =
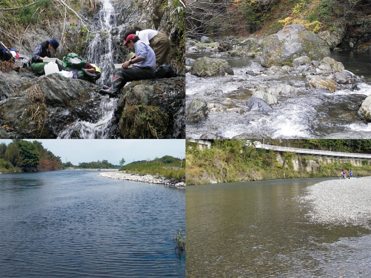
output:
[[371, 277], [371, 231], [312, 224], [299, 201], [326, 179], [188, 186], [187, 277]]

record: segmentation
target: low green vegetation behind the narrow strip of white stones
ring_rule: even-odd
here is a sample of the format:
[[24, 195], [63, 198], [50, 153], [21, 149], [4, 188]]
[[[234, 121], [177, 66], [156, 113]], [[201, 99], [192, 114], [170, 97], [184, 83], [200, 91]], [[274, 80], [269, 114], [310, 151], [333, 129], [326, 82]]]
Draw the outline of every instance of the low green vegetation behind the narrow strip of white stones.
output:
[[184, 159], [174, 158], [165, 155], [162, 158], [154, 160], [141, 160], [129, 163], [120, 168], [120, 171], [140, 175], [154, 175], [174, 179], [175, 181], [185, 181], [185, 163]]

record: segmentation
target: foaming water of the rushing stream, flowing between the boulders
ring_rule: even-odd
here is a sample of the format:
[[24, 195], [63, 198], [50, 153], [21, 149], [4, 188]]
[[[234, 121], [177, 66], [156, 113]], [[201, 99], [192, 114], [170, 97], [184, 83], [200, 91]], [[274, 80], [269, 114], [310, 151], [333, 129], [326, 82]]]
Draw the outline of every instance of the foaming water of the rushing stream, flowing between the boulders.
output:
[[[364, 76], [357, 84], [359, 90], [336, 89], [335, 92], [305, 89], [306, 78], [297, 76], [246, 75], [266, 69], [260, 58], [219, 57], [219, 53], [187, 53], [187, 58], [203, 56], [226, 59], [234, 71], [230, 76], [197, 77], [186, 74], [186, 107], [200, 97], [214, 103], [217, 109], [240, 108], [244, 113], [210, 112], [205, 121], [187, 123], [186, 136], [193, 139], [216, 138], [322, 138], [342, 132], [336, 138], [371, 138], [371, 124], [358, 115], [359, 103], [371, 95], [371, 52], [331, 52], [345, 69]], [[298, 93], [277, 96], [279, 103], [271, 112], [248, 112], [246, 100], [257, 85], [281, 85], [290, 82]], [[230, 98], [230, 102], [226, 102]], [[355, 132], [367, 132], [358, 135]]]

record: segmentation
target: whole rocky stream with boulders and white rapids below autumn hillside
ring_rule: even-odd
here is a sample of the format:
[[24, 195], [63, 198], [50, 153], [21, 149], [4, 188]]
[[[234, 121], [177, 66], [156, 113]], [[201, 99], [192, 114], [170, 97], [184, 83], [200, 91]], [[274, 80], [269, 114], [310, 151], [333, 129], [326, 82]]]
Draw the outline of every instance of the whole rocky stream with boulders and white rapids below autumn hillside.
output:
[[371, 138], [370, 51], [301, 25], [225, 42], [187, 40], [187, 138]]

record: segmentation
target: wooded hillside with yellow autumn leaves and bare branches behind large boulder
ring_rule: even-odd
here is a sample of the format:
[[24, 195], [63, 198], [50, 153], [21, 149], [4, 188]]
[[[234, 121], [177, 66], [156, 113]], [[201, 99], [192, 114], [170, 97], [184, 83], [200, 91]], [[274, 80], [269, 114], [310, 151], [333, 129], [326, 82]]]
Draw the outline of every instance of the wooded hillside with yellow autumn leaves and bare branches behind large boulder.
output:
[[[342, 33], [341, 48], [370, 49], [368, 0], [202, 0], [187, 3], [188, 36], [267, 36], [288, 24]], [[341, 32], [340, 32], [341, 31]]]

